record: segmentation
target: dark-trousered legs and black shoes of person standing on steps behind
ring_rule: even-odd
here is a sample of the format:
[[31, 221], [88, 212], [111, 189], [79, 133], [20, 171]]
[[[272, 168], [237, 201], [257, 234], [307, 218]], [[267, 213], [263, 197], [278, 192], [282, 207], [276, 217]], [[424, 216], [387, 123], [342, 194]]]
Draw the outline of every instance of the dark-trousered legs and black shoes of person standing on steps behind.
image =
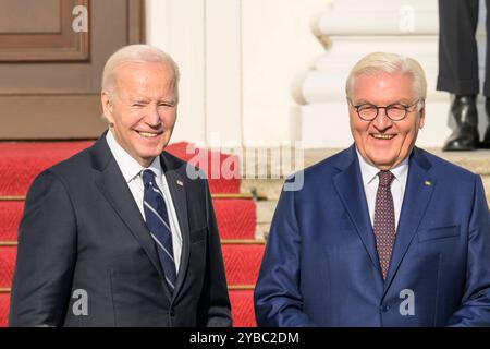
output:
[[[487, 9], [490, 0], [486, 1]], [[485, 96], [487, 131], [478, 132], [477, 96], [480, 92], [478, 47], [479, 0], [439, 0], [439, 75], [437, 88], [454, 95], [450, 116], [453, 132], [442, 149], [475, 151], [490, 148], [490, 16], [487, 15], [487, 58], [485, 65]]]

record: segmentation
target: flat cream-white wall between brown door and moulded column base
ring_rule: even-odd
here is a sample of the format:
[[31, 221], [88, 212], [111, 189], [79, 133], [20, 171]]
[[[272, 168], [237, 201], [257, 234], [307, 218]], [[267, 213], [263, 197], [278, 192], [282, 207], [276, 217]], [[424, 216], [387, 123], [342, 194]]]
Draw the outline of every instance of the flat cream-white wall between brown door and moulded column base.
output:
[[147, 0], [148, 44], [181, 67], [173, 141], [290, 141], [299, 112], [293, 81], [323, 52], [310, 20], [327, 3]]

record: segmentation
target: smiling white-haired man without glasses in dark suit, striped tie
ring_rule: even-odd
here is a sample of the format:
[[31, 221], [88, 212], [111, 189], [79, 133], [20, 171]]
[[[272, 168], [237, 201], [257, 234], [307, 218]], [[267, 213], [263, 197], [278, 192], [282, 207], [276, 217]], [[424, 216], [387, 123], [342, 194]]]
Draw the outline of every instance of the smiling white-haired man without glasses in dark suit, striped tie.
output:
[[29, 189], [11, 326], [231, 325], [208, 183], [164, 152], [177, 83], [177, 65], [154, 47], [108, 60], [109, 131]]

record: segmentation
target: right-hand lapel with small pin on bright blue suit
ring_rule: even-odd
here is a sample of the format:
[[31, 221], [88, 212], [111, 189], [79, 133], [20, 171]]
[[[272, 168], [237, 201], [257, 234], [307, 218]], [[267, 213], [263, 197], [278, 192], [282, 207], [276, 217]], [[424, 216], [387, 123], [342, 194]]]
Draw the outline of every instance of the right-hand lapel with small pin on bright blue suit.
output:
[[397, 225], [395, 245], [384, 282], [384, 292], [387, 292], [396, 275], [396, 270], [417, 232], [418, 226], [426, 213], [427, 205], [432, 196], [437, 183], [428, 174], [430, 167], [431, 164], [424, 153], [414, 147], [409, 160], [408, 178]]

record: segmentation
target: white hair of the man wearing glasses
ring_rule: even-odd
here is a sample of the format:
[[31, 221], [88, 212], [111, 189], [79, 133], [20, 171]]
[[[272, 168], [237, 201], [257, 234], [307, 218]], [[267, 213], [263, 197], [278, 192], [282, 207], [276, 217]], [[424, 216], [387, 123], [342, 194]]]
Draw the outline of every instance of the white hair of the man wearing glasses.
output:
[[379, 72], [388, 74], [408, 74], [412, 76], [414, 93], [424, 103], [427, 97], [427, 80], [424, 69], [415, 59], [387, 52], [372, 52], [363, 57], [351, 70], [345, 83], [345, 93], [351, 98], [352, 89], [357, 76], [371, 75]]

